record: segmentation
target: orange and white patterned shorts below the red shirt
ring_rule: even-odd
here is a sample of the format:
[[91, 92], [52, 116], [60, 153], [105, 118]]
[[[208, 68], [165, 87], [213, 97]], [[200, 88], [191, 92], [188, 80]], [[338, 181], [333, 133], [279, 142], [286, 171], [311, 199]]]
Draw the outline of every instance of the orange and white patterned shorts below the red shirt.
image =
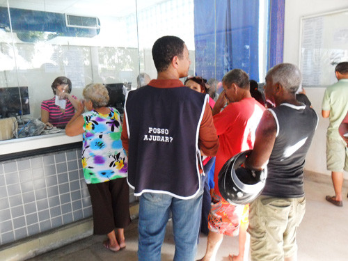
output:
[[248, 223], [249, 205], [232, 205], [213, 193], [212, 208], [208, 216], [208, 228], [231, 237], [239, 234], [240, 223]]

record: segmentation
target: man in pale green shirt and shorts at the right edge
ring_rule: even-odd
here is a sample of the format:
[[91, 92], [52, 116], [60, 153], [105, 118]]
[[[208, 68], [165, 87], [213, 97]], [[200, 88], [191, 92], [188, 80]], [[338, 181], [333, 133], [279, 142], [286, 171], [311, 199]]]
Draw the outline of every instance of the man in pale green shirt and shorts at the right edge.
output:
[[348, 62], [338, 63], [335, 74], [338, 82], [326, 88], [322, 102], [322, 116], [330, 120], [326, 134], [326, 167], [331, 171], [335, 189], [335, 196], [326, 196], [326, 200], [342, 207], [343, 171], [348, 171], [348, 149], [338, 127], [348, 111]]

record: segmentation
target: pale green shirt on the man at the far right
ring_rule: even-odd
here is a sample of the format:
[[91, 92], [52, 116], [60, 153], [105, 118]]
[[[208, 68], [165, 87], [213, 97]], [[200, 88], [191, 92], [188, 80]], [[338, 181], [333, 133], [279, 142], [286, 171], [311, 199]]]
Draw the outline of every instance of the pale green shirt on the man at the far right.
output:
[[340, 79], [326, 88], [322, 110], [330, 111], [330, 124], [326, 135], [331, 139], [341, 139], [338, 127], [348, 111], [348, 79]]

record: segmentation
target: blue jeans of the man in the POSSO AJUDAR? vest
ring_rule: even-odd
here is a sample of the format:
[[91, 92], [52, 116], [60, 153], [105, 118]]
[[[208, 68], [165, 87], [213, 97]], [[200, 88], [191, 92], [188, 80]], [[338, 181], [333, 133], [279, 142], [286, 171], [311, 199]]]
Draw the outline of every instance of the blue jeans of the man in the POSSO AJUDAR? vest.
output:
[[164, 193], [143, 193], [139, 203], [139, 261], [160, 261], [166, 224], [172, 212], [175, 261], [194, 260], [200, 228], [203, 186], [189, 200]]

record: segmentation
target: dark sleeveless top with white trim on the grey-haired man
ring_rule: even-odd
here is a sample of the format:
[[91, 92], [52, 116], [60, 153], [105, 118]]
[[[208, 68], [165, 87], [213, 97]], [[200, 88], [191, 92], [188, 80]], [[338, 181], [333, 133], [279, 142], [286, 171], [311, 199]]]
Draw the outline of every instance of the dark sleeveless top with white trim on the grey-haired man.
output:
[[304, 196], [303, 166], [317, 127], [317, 113], [293, 104], [280, 104], [269, 111], [276, 120], [277, 134], [262, 195], [299, 198]]

